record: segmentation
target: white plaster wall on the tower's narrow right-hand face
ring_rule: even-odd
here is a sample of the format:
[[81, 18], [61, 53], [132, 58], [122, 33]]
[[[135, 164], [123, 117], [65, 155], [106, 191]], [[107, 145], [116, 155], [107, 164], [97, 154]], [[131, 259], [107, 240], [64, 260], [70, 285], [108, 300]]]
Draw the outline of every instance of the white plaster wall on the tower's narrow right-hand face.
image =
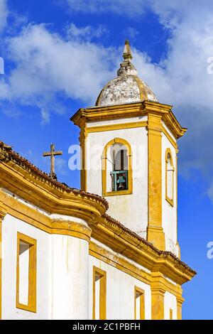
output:
[[[174, 171], [174, 189], [173, 203], [171, 206], [165, 200], [165, 151], [170, 149], [173, 155]], [[177, 243], [177, 168], [176, 168], [176, 152], [168, 138], [162, 136], [162, 225], [165, 232], [165, 250], [173, 252], [178, 256]]]

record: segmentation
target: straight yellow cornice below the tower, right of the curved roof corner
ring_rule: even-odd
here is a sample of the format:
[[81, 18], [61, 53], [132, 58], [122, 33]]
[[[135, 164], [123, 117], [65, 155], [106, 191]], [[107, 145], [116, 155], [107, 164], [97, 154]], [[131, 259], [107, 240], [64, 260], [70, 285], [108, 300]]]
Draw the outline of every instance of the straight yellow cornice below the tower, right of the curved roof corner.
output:
[[196, 274], [170, 252], [159, 251], [109, 216], [102, 217], [99, 224], [92, 226], [92, 237], [151, 271], [160, 268], [162, 274], [178, 284], [189, 281]]

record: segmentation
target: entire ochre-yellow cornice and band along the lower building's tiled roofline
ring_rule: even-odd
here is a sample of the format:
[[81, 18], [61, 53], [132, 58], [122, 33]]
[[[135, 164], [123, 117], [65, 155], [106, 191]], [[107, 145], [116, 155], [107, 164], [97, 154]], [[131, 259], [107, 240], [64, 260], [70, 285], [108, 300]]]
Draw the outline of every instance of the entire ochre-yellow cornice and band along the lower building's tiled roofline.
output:
[[21, 162], [17, 163], [15, 159], [8, 158], [6, 161], [1, 161], [0, 174], [0, 186], [18, 198], [26, 200], [45, 212], [82, 218], [89, 223], [89, 227], [79, 226], [76, 222], [50, 221], [47, 216], [24, 205], [4, 190], [0, 191], [2, 215], [9, 212], [14, 217], [45, 232], [72, 235], [87, 241], [89, 241], [91, 228], [95, 239], [150, 270], [156, 271], [158, 269], [156, 266], [160, 266], [160, 271], [175, 282], [182, 284], [195, 275], [195, 271], [179, 259], [168, 252], [160, 252], [145, 239], [141, 239], [106, 215], [107, 204], [102, 198], [89, 193], [74, 192], [72, 189], [68, 191], [60, 188], [59, 185], [53, 185], [48, 179], [45, 181], [42, 176], [39, 178], [36, 173], [24, 168]]

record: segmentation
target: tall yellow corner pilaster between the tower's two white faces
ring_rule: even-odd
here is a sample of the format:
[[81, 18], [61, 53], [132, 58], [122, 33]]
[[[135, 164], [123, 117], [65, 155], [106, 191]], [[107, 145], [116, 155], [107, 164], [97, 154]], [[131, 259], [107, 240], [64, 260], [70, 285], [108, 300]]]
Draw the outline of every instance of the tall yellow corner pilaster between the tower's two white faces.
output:
[[165, 249], [162, 227], [162, 123], [161, 115], [148, 114], [148, 242]]

